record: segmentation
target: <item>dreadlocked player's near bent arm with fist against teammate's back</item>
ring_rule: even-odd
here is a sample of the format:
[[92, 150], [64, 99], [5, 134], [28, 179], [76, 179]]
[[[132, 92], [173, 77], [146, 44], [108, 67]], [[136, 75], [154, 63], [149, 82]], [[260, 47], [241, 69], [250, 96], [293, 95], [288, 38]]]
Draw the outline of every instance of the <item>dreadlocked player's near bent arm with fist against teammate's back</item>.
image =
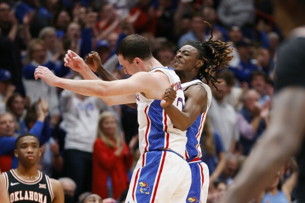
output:
[[207, 109], [207, 92], [200, 84], [189, 86], [184, 91], [186, 98], [183, 110], [180, 111], [173, 104], [176, 98], [176, 91], [173, 89], [173, 85], [170, 86], [164, 93], [164, 100], [161, 101], [161, 106], [165, 112], [169, 115], [172, 123], [179, 130], [187, 130], [195, 120], [198, 118], [200, 113], [203, 113]]

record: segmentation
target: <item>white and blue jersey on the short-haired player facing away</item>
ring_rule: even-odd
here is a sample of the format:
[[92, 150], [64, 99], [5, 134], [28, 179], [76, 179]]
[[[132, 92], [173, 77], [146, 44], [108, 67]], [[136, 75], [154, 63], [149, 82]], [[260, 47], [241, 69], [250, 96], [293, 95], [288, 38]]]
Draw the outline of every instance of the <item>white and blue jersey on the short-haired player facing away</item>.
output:
[[[169, 77], [177, 97], [173, 103], [179, 110], [184, 106], [181, 82], [172, 68], [155, 68], [150, 72], [161, 71]], [[164, 90], [165, 91], [165, 90]], [[185, 158], [186, 131], [175, 128], [160, 106], [161, 100], [148, 99], [141, 93], [136, 94], [137, 120], [139, 124], [139, 148], [141, 154], [160, 149], [172, 150]]]

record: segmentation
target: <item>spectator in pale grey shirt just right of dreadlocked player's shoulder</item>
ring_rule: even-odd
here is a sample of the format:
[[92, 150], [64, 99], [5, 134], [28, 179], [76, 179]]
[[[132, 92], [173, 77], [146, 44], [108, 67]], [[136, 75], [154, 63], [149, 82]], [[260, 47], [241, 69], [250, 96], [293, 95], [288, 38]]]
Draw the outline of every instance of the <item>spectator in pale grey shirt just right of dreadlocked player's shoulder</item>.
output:
[[[217, 78], [219, 80], [222, 79], [220, 77]], [[224, 80], [215, 85], [218, 91], [214, 86], [211, 87], [213, 98], [210, 110], [208, 111], [211, 127], [213, 130], [219, 132], [225, 151], [233, 153], [236, 142], [239, 140], [237, 114], [235, 109], [224, 100], [228, 93], [227, 82]]]

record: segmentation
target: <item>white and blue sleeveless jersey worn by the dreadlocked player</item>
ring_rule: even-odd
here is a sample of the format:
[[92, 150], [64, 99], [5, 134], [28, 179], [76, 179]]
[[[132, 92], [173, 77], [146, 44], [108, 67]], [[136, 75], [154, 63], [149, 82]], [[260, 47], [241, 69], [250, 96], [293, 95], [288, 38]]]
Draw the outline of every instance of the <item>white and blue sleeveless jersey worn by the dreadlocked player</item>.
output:
[[212, 93], [210, 87], [199, 79], [190, 82], [185, 82], [181, 84], [181, 86], [185, 91], [189, 86], [194, 84], [202, 85], [204, 89], [207, 91], [208, 105], [207, 105], [207, 110], [204, 113], [200, 113], [196, 121], [187, 129], [186, 132], [187, 143], [186, 143], [186, 151], [185, 151], [185, 157], [187, 161], [190, 161], [197, 157], [200, 158], [202, 156], [201, 148], [200, 148], [200, 137], [203, 130], [203, 124], [206, 119], [206, 115], [210, 108], [211, 100], [212, 100]]

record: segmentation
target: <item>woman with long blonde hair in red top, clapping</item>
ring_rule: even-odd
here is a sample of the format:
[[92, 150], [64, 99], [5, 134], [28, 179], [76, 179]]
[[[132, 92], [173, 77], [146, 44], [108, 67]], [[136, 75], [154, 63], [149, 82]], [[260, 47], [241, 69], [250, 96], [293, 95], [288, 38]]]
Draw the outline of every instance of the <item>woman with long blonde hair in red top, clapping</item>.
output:
[[[110, 111], [101, 113], [98, 123], [97, 139], [93, 149], [92, 192], [102, 198], [117, 199], [128, 188], [127, 172], [133, 163], [133, 147], [137, 137], [129, 147], [119, 135], [115, 114]], [[107, 192], [107, 180], [111, 180], [111, 191]]]

